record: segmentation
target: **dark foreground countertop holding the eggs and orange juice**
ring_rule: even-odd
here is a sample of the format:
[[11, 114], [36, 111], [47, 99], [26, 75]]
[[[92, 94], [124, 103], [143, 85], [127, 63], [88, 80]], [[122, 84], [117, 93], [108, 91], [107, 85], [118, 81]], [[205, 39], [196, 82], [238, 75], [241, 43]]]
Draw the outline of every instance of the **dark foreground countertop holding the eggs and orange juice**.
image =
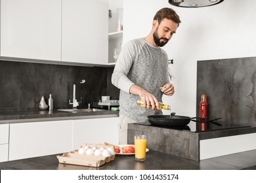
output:
[[1, 170], [237, 170], [256, 169], [256, 150], [230, 154], [217, 158], [194, 161], [163, 152], [149, 150], [146, 161], [137, 162], [135, 157], [116, 155], [113, 161], [100, 167], [68, 165], [58, 162], [55, 155], [20, 159], [0, 163]]

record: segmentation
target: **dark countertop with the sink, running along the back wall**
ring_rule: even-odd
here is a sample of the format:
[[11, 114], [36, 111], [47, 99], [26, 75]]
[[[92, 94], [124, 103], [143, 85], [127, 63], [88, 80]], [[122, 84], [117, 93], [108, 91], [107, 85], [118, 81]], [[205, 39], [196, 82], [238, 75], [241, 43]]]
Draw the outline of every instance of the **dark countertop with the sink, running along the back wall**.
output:
[[60, 110], [1, 110], [0, 124], [18, 122], [41, 122], [50, 120], [76, 120], [86, 118], [117, 117], [119, 111], [66, 112]]

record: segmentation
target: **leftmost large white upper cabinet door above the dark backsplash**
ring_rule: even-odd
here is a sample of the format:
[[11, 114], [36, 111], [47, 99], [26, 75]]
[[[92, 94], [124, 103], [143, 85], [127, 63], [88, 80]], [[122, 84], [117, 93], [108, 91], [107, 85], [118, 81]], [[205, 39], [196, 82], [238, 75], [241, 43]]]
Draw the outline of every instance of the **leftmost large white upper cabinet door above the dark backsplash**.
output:
[[1, 56], [61, 59], [61, 0], [1, 0]]

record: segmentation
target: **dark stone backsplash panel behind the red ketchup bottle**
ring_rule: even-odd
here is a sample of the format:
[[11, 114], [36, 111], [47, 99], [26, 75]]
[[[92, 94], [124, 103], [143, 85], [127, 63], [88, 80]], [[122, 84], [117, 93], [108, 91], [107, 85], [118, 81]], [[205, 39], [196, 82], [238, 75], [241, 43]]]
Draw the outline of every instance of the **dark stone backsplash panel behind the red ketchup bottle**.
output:
[[207, 95], [209, 118], [232, 124], [256, 124], [256, 58], [198, 61], [197, 115]]

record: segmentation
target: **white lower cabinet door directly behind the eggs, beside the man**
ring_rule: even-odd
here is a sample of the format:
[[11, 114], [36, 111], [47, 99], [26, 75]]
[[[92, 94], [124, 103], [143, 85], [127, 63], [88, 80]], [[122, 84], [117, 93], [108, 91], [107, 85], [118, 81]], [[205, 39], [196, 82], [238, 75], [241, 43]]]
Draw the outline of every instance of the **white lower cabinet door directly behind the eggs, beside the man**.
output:
[[77, 149], [84, 143], [118, 144], [118, 119], [114, 117], [74, 120], [73, 148]]

